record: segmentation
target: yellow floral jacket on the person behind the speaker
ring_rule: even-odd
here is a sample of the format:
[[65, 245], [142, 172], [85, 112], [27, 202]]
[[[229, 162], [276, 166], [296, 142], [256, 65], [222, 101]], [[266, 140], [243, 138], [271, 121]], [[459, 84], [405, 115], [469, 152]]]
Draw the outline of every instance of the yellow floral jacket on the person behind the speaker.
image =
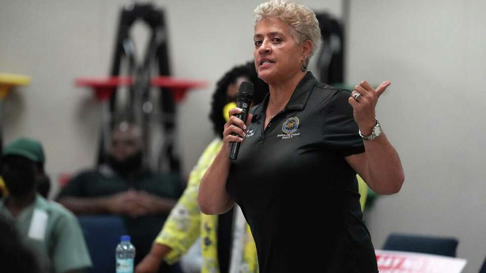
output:
[[[172, 210], [164, 228], [155, 239], [155, 243], [164, 244], [172, 248], [167, 255], [168, 263], [175, 263], [180, 256], [187, 252], [192, 244], [201, 237], [201, 254], [203, 255], [202, 273], [219, 273], [217, 229], [218, 215], [205, 215], [197, 205], [197, 193], [204, 173], [218, 154], [221, 139], [213, 140], [197, 165], [189, 174], [186, 190]], [[257, 250], [253, 241], [250, 227], [247, 225], [244, 253], [242, 254], [242, 273], [258, 272]]]

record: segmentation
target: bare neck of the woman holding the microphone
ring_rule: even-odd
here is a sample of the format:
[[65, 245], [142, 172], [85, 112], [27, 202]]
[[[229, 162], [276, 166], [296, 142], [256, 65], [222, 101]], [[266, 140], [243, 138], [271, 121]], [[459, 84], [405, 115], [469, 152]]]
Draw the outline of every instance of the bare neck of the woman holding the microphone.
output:
[[[270, 98], [266, 111], [267, 118], [273, 118], [273, 116], [284, 109], [305, 74], [305, 72], [299, 72], [285, 81], [269, 83]], [[268, 117], [268, 115], [270, 116]]]

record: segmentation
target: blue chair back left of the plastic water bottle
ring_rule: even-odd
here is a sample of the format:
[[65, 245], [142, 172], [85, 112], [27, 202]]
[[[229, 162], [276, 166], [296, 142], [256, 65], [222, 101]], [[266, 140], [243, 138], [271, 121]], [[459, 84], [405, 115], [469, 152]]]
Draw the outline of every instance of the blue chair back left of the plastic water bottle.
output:
[[93, 267], [90, 273], [115, 272], [115, 248], [120, 236], [127, 235], [125, 224], [117, 216], [79, 216]]

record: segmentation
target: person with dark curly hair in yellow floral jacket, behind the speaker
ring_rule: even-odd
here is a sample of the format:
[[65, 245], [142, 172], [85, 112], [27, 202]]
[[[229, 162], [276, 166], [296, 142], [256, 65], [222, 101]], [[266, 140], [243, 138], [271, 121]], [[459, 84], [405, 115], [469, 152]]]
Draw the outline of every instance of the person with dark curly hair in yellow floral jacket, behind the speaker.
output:
[[[229, 118], [228, 110], [236, 106], [236, 94], [243, 81], [254, 83], [254, 103], [260, 103], [268, 93], [268, 85], [258, 78], [253, 62], [233, 67], [218, 81], [210, 113], [216, 138], [192, 169], [184, 194], [171, 212], [164, 229], [155, 239], [150, 253], [137, 265], [137, 273], [156, 272], [163, 260], [169, 263], [177, 261], [199, 237], [203, 256], [201, 272], [226, 273], [230, 266], [238, 268], [238, 272], [258, 271], [255, 243], [246, 221], [239, 227], [244, 234], [240, 237], [241, 247], [236, 249], [233, 247], [233, 226], [237, 225], [235, 218], [238, 214], [230, 210], [222, 215], [204, 215], [197, 205], [200, 180], [223, 144], [222, 128]], [[232, 258], [231, 253], [235, 252], [239, 256]]]

